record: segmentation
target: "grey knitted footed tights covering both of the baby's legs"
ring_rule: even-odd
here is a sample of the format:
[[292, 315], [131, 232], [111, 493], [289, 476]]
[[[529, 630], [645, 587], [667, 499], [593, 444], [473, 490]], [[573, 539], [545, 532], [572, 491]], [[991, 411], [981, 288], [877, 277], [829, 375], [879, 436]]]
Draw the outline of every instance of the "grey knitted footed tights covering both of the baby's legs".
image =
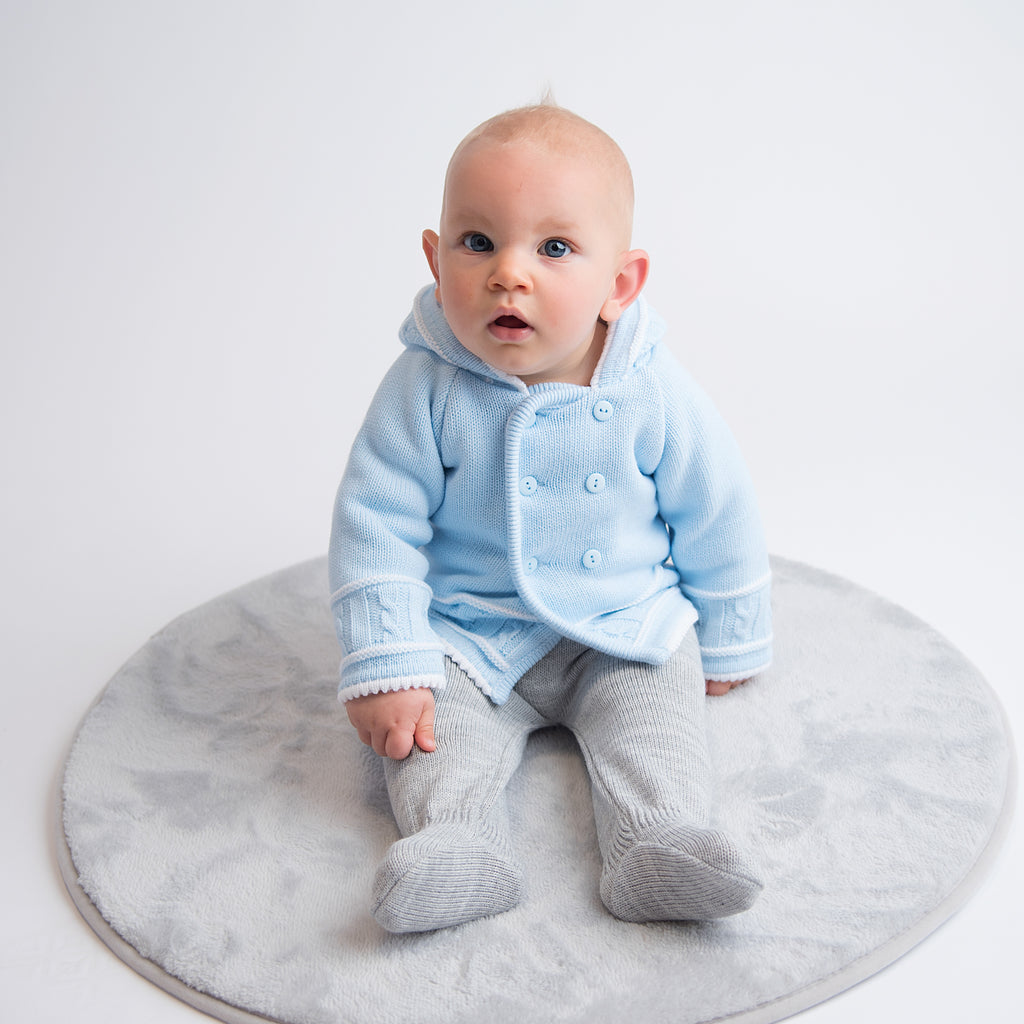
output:
[[559, 723], [575, 734], [590, 773], [605, 906], [631, 922], [745, 910], [761, 883], [709, 826], [705, 700], [692, 630], [663, 666], [562, 640], [501, 707], [449, 662], [436, 693], [437, 750], [385, 762], [403, 838], [377, 871], [377, 921], [391, 932], [432, 931], [521, 900], [505, 787], [529, 733]]

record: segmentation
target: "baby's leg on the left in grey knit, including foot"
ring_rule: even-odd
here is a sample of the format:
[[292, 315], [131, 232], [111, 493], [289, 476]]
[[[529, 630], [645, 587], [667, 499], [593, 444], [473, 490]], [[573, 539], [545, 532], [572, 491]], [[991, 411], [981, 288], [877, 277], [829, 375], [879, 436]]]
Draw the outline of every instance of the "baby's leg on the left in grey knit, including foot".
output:
[[542, 723], [514, 693], [495, 707], [451, 662], [446, 680], [436, 694], [437, 749], [384, 763], [404, 838], [377, 871], [373, 911], [391, 932], [464, 924], [509, 910], [522, 896], [505, 786]]

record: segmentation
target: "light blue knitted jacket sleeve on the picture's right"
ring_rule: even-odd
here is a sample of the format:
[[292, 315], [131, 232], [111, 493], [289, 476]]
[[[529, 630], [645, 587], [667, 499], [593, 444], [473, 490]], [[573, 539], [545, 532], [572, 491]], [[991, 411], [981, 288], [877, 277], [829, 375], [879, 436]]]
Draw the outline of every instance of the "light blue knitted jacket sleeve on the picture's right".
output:
[[672, 561], [697, 612], [705, 677], [746, 679], [768, 667], [772, 645], [771, 570], [754, 485], [708, 396], [671, 356], [657, 364], [665, 446], [654, 479]]

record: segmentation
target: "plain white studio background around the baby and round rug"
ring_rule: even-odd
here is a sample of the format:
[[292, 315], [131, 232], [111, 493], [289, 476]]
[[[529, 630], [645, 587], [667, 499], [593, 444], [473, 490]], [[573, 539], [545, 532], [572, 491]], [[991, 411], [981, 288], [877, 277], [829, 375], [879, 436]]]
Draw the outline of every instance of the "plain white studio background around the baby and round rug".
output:
[[[1022, 11], [0, 0], [0, 1017], [199, 1019], [65, 895], [67, 745], [165, 623], [326, 550], [449, 154], [548, 85], [632, 160], [772, 550], [937, 627], [1020, 735]], [[1020, 848], [805, 1019], [1022, 1019]]]

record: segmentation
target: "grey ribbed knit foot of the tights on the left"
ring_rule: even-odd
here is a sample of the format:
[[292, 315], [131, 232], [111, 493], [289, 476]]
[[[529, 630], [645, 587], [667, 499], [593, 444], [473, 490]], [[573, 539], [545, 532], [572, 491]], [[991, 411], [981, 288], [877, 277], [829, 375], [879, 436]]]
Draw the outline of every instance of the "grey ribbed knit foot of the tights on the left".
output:
[[522, 877], [503, 847], [451, 824], [399, 840], [377, 870], [374, 916], [389, 932], [430, 932], [511, 910]]

